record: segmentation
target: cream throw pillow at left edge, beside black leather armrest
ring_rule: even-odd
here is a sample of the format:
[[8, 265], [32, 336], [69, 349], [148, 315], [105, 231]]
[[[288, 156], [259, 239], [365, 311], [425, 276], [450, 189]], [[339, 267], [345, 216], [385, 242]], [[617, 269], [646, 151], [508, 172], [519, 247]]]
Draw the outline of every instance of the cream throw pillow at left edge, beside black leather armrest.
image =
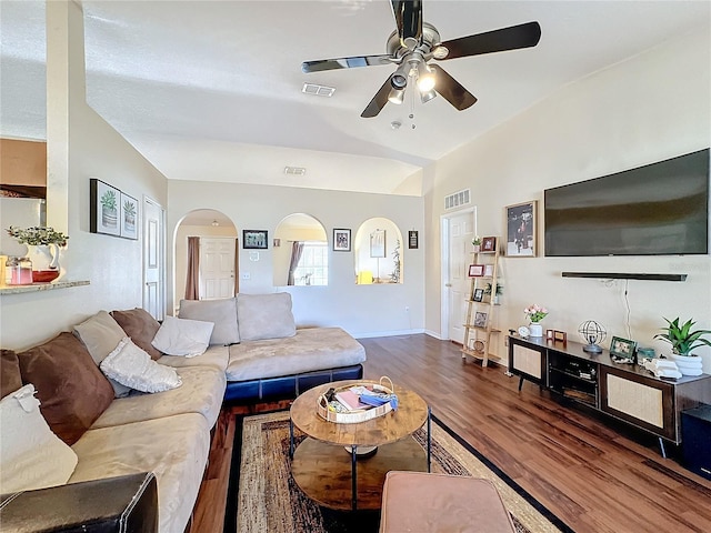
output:
[[42, 418], [34, 386], [27, 384], [0, 400], [0, 493], [63, 485], [77, 454]]

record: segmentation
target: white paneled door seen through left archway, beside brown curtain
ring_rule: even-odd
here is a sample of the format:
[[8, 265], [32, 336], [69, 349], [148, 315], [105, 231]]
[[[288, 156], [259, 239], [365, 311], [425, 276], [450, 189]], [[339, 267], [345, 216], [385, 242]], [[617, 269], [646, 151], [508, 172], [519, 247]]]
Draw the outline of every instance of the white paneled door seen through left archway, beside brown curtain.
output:
[[234, 243], [232, 237], [200, 238], [200, 300], [234, 295]]

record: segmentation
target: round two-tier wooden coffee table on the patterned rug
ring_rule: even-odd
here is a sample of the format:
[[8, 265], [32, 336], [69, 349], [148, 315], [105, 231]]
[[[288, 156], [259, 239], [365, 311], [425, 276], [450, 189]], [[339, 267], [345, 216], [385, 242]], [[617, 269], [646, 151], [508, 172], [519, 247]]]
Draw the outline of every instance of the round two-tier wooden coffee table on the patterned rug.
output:
[[[319, 416], [316, 404], [321, 394], [332, 386], [359, 383], [374, 382], [327, 383], [304, 392], [291, 405], [291, 473], [307, 496], [330, 509], [380, 509], [389, 471], [430, 470], [430, 409], [412, 391], [395, 386], [398, 410], [365, 422], [341, 424]], [[425, 423], [427, 451], [412, 436]], [[294, 428], [307, 435], [296, 450]], [[364, 446], [378, 449], [359, 457], [358, 449]]]

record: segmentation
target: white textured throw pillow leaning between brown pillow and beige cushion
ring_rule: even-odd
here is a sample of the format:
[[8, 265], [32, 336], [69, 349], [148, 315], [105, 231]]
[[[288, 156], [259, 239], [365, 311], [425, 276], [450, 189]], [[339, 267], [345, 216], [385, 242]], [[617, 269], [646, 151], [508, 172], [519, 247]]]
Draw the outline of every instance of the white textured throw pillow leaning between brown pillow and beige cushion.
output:
[[101, 361], [101, 371], [108, 378], [141, 392], [169, 391], [182, 384], [174, 369], [158, 364], [128, 336]]

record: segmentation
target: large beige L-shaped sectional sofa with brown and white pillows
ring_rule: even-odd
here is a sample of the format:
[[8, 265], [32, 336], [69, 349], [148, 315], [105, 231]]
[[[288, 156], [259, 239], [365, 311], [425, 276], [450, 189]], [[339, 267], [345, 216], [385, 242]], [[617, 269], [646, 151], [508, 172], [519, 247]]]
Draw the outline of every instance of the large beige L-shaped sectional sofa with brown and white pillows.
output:
[[[6, 432], [20, 435], [28, 418], [44, 430], [38, 425], [41, 439], [32, 438], [39, 450], [20, 436], [13, 449], [3, 442], [0, 492], [152, 472], [158, 531], [180, 533], [223, 401], [293, 396], [358, 379], [364, 359], [362, 345], [339, 328], [297, 329], [288, 293], [183, 301], [179, 316], [162, 324], [141, 309], [101, 311], [39, 346], [2, 351], [3, 441]], [[34, 390], [39, 411], [28, 400]], [[41, 452], [48, 442], [56, 450], [49, 456]], [[11, 472], [9, 464], [33, 467]], [[8, 501], [0, 503], [0, 522]]]

